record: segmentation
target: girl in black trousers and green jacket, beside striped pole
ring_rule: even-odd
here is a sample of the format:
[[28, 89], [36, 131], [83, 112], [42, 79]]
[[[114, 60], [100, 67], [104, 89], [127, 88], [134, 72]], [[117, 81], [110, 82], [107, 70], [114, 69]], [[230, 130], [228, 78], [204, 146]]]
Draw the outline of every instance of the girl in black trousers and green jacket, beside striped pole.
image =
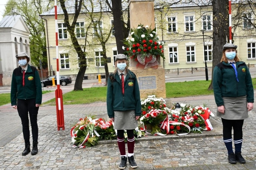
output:
[[[32, 129], [33, 148], [32, 155], [38, 153], [38, 125], [37, 114], [42, 102], [41, 80], [35, 67], [30, 66], [29, 56], [25, 52], [16, 55], [20, 66], [14, 69], [11, 80], [11, 106], [18, 110], [21, 123], [25, 149], [22, 155], [30, 152], [29, 118]], [[29, 116], [28, 116], [29, 115]]]

